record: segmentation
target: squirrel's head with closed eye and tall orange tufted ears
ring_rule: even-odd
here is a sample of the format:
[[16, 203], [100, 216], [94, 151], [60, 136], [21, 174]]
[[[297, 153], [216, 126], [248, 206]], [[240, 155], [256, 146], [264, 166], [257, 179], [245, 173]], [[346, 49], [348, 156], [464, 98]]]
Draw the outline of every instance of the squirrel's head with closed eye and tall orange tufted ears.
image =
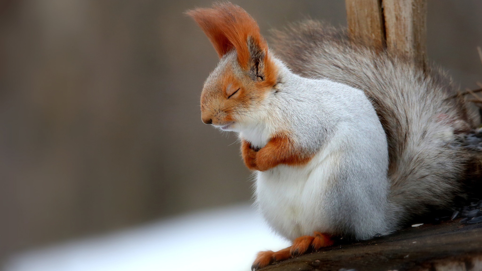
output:
[[273, 93], [278, 68], [254, 19], [241, 7], [216, 3], [188, 11], [201, 27], [220, 62], [204, 82], [201, 119], [223, 130], [253, 119], [263, 100]]

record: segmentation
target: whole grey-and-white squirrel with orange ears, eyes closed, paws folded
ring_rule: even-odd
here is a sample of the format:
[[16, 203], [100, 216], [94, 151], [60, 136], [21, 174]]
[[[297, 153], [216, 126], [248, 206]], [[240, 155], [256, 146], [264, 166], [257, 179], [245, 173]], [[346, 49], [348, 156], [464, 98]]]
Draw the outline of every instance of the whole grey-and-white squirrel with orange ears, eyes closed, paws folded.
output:
[[389, 234], [450, 207], [481, 176], [481, 154], [459, 143], [475, 121], [442, 70], [312, 20], [275, 31], [275, 54], [237, 5], [187, 14], [220, 58], [202, 88], [202, 122], [238, 133], [255, 204], [293, 242], [259, 252], [253, 270], [336, 237]]

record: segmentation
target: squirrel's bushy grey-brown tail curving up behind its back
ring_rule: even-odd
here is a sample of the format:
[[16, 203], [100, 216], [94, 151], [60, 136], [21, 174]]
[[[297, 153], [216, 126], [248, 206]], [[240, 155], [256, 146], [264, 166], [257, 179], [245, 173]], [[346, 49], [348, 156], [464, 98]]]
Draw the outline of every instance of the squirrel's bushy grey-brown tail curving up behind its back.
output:
[[424, 72], [312, 20], [274, 35], [275, 53], [295, 73], [346, 83], [372, 100], [388, 138], [395, 224], [464, 196], [464, 183], [479, 174], [480, 154], [461, 143], [474, 122], [445, 72]]

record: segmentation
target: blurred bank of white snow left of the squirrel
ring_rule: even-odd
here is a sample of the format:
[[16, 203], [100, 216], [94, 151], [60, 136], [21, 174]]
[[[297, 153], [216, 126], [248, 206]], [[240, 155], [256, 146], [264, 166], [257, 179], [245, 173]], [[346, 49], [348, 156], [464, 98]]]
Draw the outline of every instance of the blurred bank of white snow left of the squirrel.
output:
[[289, 242], [248, 204], [184, 215], [14, 255], [5, 271], [249, 271]]

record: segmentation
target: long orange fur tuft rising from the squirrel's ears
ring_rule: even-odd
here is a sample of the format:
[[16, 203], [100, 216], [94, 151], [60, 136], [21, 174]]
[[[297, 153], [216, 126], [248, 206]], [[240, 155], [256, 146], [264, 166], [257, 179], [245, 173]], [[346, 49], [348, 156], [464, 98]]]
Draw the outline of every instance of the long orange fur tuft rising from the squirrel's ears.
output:
[[259, 33], [256, 21], [241, 7], [227, 3], [215, 3], [213, 8], [187, 11], [214, 45], [219, 58], [232, 49], [238, 53], [241, 67], [248, 68], [250, 52], [248, 37], [268, 56], [268, 44]]

